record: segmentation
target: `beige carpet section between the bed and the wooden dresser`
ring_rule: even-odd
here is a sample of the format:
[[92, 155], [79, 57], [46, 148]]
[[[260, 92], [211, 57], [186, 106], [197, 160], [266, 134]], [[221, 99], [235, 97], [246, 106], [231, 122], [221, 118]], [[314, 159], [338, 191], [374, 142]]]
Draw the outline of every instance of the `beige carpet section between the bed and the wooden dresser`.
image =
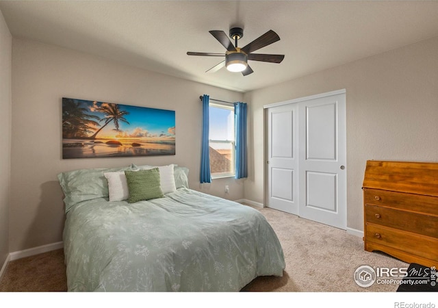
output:
[[398, 285], [359, 287], [353, 279], [362, 265], [407, 268], [383, 253], [363, 250], [363, 240], [346, 231], [264, 208], [261, 213], [278, 235], [285, 253], [283, 278], [259, 277], [244, 290], [276, 292], [396, 292]]

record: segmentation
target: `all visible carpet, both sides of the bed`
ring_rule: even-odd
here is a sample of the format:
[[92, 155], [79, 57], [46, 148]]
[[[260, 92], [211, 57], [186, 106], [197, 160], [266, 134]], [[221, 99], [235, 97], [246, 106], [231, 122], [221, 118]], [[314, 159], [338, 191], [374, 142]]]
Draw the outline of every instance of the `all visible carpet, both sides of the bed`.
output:
[[[395, 292], [398, 285], [359, 287], [355, 270], [407, 267], [382, 253], [363, 250], [363, 241], [346, 231], [274, 209], [260, 209], [279, 236], [285, 253], [283, 277], [258, 277], [243, 291], [274, 292]], [[11, 261], [0, 281], [3, 292], [66, 291], [62, 249]]]

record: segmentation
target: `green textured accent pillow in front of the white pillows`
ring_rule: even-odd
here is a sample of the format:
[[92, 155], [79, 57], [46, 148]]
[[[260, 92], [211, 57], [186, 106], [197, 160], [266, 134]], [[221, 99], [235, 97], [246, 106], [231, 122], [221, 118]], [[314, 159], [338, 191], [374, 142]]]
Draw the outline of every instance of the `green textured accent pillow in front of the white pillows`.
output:
[[159, 182], [159, 169], [125, 171], [128, 183], [128, 203], [164, 197]]

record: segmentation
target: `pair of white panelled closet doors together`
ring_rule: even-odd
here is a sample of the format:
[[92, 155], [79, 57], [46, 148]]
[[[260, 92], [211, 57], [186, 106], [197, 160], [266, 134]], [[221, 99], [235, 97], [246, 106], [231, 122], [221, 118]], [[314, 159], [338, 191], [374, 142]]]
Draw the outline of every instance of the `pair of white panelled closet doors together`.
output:
[[346, 229], [345, 91], [265, 107], [268, 207]]

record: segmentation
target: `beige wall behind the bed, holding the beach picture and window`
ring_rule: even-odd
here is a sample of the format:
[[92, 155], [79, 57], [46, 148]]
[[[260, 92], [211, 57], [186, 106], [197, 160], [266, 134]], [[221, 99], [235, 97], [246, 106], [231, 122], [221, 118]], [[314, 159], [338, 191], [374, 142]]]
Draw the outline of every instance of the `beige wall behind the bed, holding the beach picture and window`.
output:
[[[135, 164], [190, 168], [190, 187], [224, 198], [243, 198], [243, 182], [216, 179], [199, 184], [199, 96], [241, 101], [243, 94], [151, 73], [29, 40], [12, 44], [12, 176], [10, 251], [62, 240], [64, 204], [59, 172]], [[176, 155], [62, 159], [62, 97], [175, 110]], [[224, 194], [224, 185], [230, 193]]]

